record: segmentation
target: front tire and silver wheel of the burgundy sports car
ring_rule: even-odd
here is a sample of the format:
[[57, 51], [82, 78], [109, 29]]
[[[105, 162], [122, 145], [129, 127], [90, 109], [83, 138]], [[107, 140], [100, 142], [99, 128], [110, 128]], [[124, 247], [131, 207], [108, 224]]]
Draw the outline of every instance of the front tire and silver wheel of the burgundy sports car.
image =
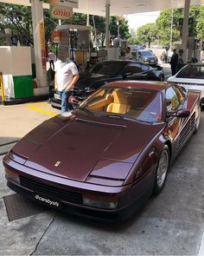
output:
[[155, 182], [153, 187], [153, 194], [160, 194], [163, 190], [167, 174], [169, 170], [169, 148], [167, 145], [163, 147], [163, 151], [159, 156], [156, 166]]

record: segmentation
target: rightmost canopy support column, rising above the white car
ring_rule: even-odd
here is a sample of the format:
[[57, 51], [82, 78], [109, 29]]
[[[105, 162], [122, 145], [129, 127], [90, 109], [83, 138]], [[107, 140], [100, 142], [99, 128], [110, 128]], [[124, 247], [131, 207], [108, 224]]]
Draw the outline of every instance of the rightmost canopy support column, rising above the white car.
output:
[[182, 49], [183, 49], [182, 60], [183, 60], [183, 63], [187, 63], [188, 62], [187, 42], [188, 42], [188, 16], [189, 16], [189, 9], [190, 9], [190, 0], [185, 0], [183, 23], [182, 23]]

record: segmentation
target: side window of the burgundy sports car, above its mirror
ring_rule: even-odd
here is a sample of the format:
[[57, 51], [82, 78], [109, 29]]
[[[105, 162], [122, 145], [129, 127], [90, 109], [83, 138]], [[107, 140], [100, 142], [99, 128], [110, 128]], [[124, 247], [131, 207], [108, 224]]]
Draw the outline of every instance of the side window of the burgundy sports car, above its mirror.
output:
[[166, 90], [166, 107], [168, 112], [174, 112], [180, 105], [180, 100], [178, 95], [176, 95], [175, 90], [169, 87]]

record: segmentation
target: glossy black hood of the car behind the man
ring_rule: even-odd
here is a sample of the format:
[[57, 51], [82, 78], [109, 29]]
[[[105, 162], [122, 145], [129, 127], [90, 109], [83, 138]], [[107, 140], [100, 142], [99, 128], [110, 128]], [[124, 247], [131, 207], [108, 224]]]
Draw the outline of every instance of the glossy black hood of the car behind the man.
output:
[[74, 89], [82, 89], [84, 90], [86, 87], [92, 86], [93, 83], [99, 82], [99, 81], [107, 81], [109, 82], [112, 77], [119, 77], [117, 75], [111, 76], [111, 75], [101, 75], [101, 74], [83, 74], [80, 77], [80, 80], [75, 84]]

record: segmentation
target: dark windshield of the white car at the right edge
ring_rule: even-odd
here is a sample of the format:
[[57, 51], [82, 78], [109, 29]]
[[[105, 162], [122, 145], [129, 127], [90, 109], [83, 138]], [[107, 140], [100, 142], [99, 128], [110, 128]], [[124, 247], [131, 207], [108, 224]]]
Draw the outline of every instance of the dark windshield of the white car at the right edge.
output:
[[179, 78], [204, 79], [204, 65], [188, 64], [176, 75]]

